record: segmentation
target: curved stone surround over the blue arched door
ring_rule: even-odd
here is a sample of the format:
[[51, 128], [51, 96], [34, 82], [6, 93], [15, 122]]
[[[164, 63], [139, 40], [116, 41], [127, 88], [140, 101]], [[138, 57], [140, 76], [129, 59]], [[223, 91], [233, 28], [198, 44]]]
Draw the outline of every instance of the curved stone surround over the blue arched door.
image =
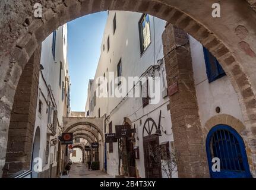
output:
[[239, 119], [227, 114], [220, 114], [220, 115], [211, 117], [210, 119], [208, 119], [208, 121], [206, 122], [206, 124], [204, 124], [204, 127], [203, 127], [204, 139], [206, 140], [207, 134], [210, 131], [210, 129], [219, 124], [229, 125], [233, 129], [235, 129], [239, 135], [241, 135], [245, 143], [245, 149], [246, 149], [246, 154], [248, 158], [249, 168], [251, 172], [254, 172], [255, 163], [253, 163], [252, 161], [252, 151], [251, 151], [251, 148], [249, 147], [248, 140], [246, 138], [246, 126]]

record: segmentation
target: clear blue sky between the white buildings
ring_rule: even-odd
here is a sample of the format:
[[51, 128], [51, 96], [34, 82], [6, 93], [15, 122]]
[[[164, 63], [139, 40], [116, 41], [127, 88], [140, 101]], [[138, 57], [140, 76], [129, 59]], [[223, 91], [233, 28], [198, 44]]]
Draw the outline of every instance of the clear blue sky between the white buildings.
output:
[[97, 12], [68, 23], [68, 64], [71, 110], [84, 112], [89, 79], [94, 78], [108, 12]]

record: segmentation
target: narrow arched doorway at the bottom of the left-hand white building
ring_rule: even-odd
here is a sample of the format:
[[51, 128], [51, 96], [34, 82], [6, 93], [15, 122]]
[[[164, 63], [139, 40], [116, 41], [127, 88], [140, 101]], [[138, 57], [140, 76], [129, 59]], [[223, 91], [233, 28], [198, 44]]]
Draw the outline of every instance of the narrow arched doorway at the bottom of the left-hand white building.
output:
[[42, 167], [42, 161], [40, 162], [39, 151], [40, 151], [40, 128], [39, 126], [37, 126], [36, 133], [34, 134], [33, 156], [31, 160], [32, 178], [38, 178], [38, 173], [40, 172], [40, 169], [42, 169], [40, 168]]

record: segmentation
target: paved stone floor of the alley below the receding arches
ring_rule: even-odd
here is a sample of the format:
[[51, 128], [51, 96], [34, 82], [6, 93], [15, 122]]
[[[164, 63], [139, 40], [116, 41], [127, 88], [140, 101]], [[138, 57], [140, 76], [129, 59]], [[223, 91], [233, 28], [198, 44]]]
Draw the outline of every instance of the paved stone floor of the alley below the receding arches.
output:
[[89, 171], [83, 163], [73, 163], [69, 175], [64, 178], [114, 178], [114, 176], [99, 170]]

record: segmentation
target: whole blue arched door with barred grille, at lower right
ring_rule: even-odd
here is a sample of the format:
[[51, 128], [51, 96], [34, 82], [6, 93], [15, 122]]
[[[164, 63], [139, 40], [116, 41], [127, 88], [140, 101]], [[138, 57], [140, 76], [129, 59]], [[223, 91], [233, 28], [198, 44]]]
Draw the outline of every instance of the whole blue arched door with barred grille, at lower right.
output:
[[[207, 135], [206, 152], [211, 178], [251, 178], [242, 137], [227, 125], [214, 126]], [[213, 172], [213, 157], [220, 159], [220, 172]]]

